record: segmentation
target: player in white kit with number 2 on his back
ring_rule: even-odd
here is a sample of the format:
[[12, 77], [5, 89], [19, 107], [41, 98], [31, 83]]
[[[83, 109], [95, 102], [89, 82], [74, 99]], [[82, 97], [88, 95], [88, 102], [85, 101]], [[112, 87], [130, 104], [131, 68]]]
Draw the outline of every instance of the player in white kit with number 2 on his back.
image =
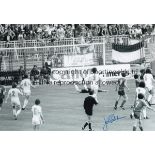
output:
[[5, 101], [7, 103], [8, 98], [11, 98], [11, 105], [13, 107], [13, 116], [15, 117], [15, 120], [17, 120], [18, 115], [21, 113], [21, 104], [18, 95], [23, 95], [16, 87], [16, 83], [13, 83]]

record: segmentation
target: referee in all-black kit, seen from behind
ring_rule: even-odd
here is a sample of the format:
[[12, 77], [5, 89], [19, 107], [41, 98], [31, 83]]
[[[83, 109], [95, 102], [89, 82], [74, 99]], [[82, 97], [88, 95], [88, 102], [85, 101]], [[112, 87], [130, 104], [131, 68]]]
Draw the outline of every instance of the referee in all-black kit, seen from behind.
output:
[[92, 127], [91, 127], [91, 117], [93, 115], [93, 106], [97, 105], [98, 102], [96, 101], [96, 99], [93, 97], [94, 91], [90, 91], [89, 92], [89, 96], [85, 98], [84, 100], [84, 110], [85, 113], [88, 117], [88, 121], [84, 124], [84, 126], [82, 127], [82, 130], [84, 130], [86, 128], [86, 126], [89, 126], [89, 131], [92, 131]]

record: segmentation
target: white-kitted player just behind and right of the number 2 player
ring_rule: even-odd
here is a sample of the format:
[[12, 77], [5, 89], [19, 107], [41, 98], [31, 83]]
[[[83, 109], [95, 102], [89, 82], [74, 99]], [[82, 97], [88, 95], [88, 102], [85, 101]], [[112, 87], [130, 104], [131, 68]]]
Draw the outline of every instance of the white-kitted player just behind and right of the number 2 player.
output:
[[28, 75], [26, 74], [24, 76], [24, 79], [21, 81], [21, 84], [20, 84], [20, 88], [22, 89], [22, 92], [25, 96], [25, 99], [24, 99], [24, 105], [22, 107], [22, 110], [25, 110], [25, 107], [27, 106], [28, 102], [29, 102], [29, 98], [30, 98], [30, 95], [31, 95], [31, 87], [35, 88], [30, 79], [28, 78]]

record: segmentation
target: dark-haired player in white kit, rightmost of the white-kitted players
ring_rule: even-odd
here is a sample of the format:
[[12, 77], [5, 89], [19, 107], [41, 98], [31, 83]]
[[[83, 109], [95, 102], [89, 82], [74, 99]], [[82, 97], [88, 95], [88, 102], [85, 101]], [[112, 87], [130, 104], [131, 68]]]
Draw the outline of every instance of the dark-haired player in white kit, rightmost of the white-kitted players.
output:
[[149, 104], [151, 105], [151, 99], [152, 99], [152, 90], [153, 90], [153, 82], [155, 80], [153, 79], [153, 75], [151, 73], [151, 69], [146, 69], [146, 72], [144, 74], [144, 82], [145, 82], [145, 86], [149, 92], [149, 95], [148, 95], [148, 98], [147, 98], [147, 101], [149, 102]]

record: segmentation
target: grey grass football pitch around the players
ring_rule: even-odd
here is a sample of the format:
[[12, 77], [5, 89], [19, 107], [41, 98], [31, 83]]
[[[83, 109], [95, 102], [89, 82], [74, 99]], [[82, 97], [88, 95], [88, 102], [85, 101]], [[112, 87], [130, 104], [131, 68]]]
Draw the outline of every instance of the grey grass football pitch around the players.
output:
[[[94, 106], [92, 117], [92, 128], [95, 131], [103, 131], [105, 119], [109, 115], [114, 114], [118, 117], [123, 117], [107, 126], [108, 131], [132, 131], [134, 119], [130, 119], [132, 111], [131, 105], [135, 98], [135, 83], [134, 80], [128, 81], [129, 92], [128, 101], [125, 104], [125, 110], [118, 107], [113, 110], [117, 92], [115, 85], [102, 86], [102, 89], [108, 92], [98, 93], [99, 104]], [[79, 86], [83, 88], [82, 86]], [[45, 124], [40, 127], [41, 131], [81, 131], [81, 128], [87, 117], [83, 109], [84, 98], [88, 94], [76, 92], [74, 85], [58, 86], [58, 85], [42, 85], [32, 88], [32, 96], [26, 110], [22, 111], [18, 120], [14, 120], [12, 116], [12, 107], [10, 100], [7, 104], [3, 104], [0, 111], [0, 131], [33, 131], [32, 129], [32, 112], [31, 107], [35, 99], [41, 100], [41, 106], [45, 119]], [[23, 105], [23, 97], [20, 97]], [[121, 103], [121, 102], [120, 102]], [[119, 104], [120, 105], [120, 104]], [[155, 113], [147, 110], [150, 119], [143, 120], [145, 131], [155, 130]], [[87, 129], [86, 129], [87, 131]]]

